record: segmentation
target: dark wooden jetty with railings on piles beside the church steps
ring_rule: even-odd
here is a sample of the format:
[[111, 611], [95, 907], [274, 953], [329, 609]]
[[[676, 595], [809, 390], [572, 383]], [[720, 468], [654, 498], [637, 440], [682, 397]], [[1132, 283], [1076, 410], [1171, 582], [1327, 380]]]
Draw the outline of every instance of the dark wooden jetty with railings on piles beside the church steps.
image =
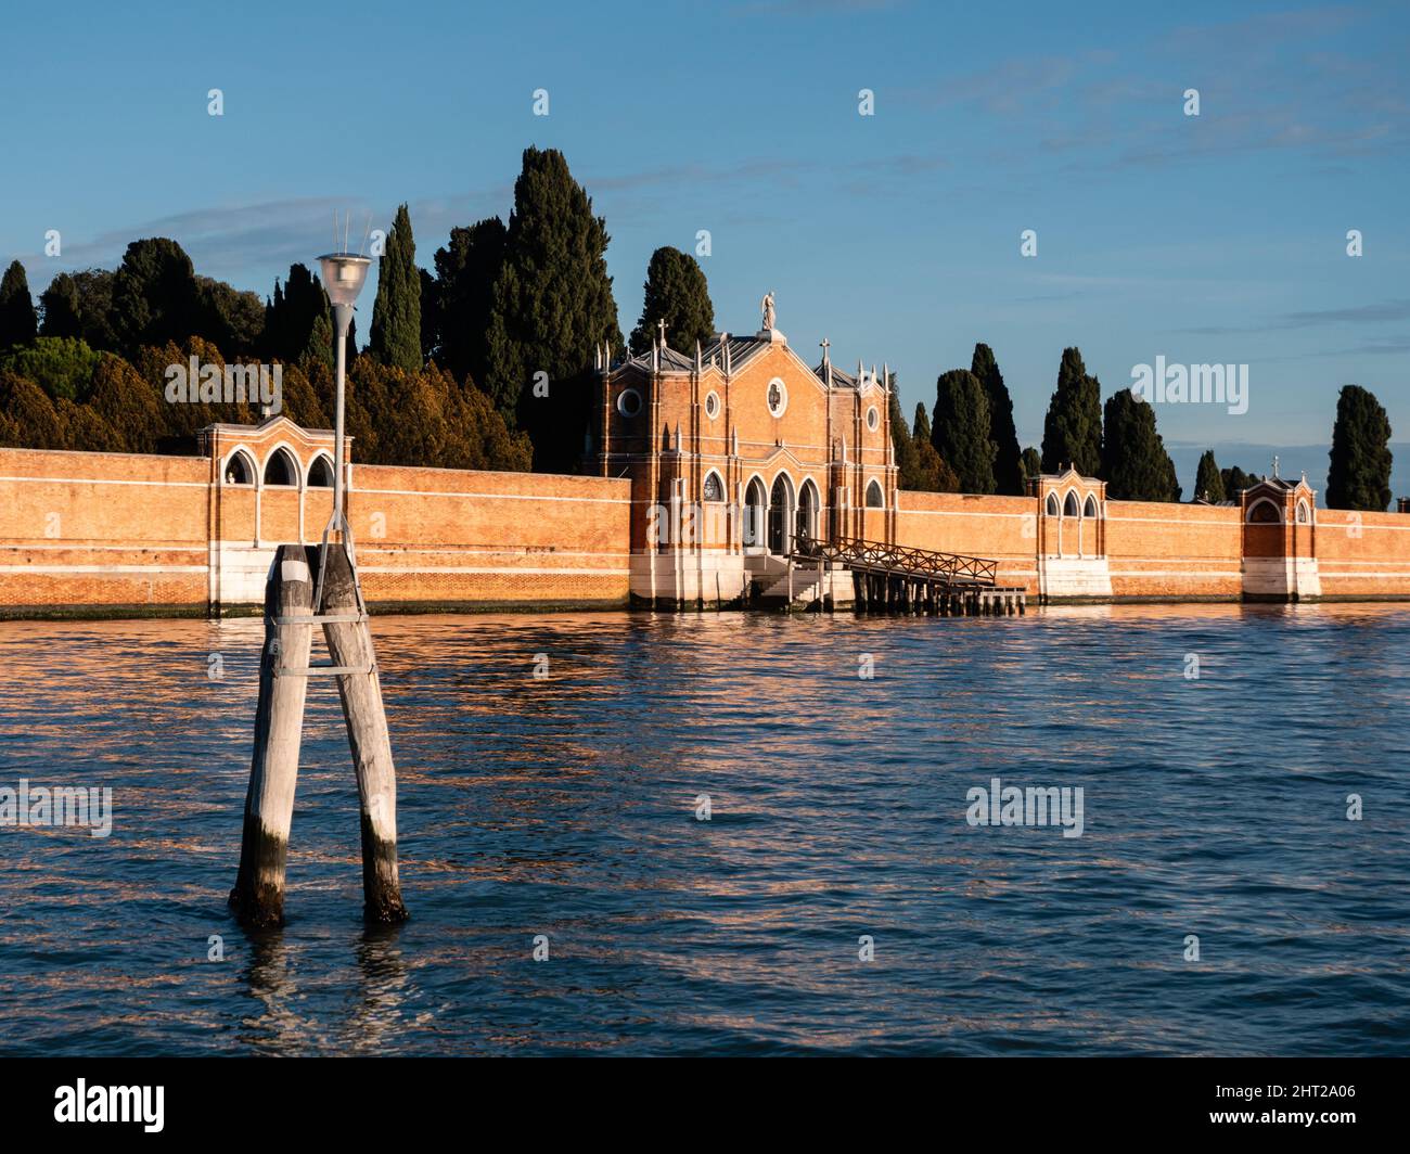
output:
[[901, 545], [835, 537], [798, 537], [792, 559], [852, 573], [859, 612], [1003, 617], [1022, 614], [1022, 585], [1000, 585], [998, 561]]

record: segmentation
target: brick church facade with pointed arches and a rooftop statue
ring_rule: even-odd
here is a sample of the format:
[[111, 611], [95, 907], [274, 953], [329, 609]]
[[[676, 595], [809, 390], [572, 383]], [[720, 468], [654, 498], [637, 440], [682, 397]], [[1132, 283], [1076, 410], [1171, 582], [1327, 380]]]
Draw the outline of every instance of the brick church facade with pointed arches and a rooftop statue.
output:
[[[589, 463], [632, 482], [632, 594], [653, 604], [816, 600], [836, 574], [790, 566], [799, 540], [895, 535], [885, 375], [808, 364], [778, 329], [682, 356], [598, 360]], [[839, 587], [839, 598], [842, 595]]]

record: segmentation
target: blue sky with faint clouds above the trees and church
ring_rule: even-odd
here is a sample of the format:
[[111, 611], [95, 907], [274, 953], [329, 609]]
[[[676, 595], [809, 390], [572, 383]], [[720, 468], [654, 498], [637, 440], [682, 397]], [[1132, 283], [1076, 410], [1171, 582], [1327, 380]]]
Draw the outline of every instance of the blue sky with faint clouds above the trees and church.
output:
[[773, 291], [809, 363], [826, 337], [888, 364], [908, 415], [976, 341], [1022, 444], [1066, 346], [1104, 398], [1156, 357], [1246, 364], [1246, 412], [1156, 408], [1187, 497], [1207, 446], [1320, 487], [1345, 384], [1389, 411], [1410, 492], [1406, 4], [70, 0], [6, 34], [0, 258], [35, 295], [144, 236], [268, 295], [334, 209], [386, 229], [403, 200], [431, 267], [508, 220], [533, 144], [606, 219], [623, 332], [651, 251], [708, 230], [716, 327]]

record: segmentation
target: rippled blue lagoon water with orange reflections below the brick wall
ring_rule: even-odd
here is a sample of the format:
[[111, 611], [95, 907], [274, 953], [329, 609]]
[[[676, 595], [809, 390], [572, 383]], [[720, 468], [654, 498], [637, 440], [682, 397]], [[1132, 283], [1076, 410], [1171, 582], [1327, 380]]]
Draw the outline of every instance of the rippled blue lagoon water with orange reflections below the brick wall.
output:
[[[1410, 1051], [1404, 607], [384, 618], [412, 921], [317, 681], [251, 937], [259, 629], [0, 624], [0, 786], [114, 790], [0, 830], [0, 1052]], [[969, 825], [994, 776], [1083, 835]]]

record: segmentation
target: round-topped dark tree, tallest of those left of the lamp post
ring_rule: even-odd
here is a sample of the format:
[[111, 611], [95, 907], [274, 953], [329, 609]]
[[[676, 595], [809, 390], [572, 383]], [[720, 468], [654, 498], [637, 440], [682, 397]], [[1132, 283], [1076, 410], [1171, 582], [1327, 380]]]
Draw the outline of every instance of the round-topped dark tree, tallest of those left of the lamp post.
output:
[[111, 324], [124, 357], [144, 344], [204, 336], [204, 308], [196, 271], [166, 237], [134, 240], [113, 277]]

